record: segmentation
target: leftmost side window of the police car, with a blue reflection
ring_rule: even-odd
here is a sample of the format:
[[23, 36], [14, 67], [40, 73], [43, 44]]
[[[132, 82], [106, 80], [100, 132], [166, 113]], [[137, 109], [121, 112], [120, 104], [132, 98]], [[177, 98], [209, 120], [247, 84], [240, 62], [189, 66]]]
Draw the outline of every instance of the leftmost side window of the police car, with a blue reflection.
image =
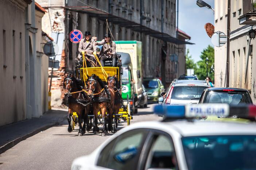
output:
[[119, 135], [101, 151], [97, 165], [116, 170], [137, 169], [147, 135], [147, 129], [136, 129]]

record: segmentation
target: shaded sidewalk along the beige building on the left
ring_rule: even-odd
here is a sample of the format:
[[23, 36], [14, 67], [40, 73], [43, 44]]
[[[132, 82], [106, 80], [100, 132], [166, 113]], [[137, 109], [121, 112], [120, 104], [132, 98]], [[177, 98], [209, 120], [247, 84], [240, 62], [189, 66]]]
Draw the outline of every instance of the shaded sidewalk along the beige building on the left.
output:
[[40, 118], [32, 118], [0, 127], [0, 154], [32, 135], [66, 120], [67, 110], [53, 109]]

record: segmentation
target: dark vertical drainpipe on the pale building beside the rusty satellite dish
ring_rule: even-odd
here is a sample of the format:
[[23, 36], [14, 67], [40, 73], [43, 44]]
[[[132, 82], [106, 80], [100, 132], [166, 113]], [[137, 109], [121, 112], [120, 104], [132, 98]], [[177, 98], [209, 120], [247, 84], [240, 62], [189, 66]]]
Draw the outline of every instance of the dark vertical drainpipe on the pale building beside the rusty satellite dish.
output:
[[228, 0], [228, 18], [227, 18], [227, 62], [226, 62], [226, 87], [229, 87], [229, 37], [230, 37], [230, 0]]

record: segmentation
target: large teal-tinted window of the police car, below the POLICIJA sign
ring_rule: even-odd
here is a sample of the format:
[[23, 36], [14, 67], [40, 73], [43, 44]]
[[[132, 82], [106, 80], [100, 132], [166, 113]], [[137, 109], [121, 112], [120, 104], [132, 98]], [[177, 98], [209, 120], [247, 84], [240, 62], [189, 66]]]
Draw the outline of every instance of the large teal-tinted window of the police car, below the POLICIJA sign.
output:
[[190, 170], [251, 170], [256, 162], [256, 135], [183, 137]]

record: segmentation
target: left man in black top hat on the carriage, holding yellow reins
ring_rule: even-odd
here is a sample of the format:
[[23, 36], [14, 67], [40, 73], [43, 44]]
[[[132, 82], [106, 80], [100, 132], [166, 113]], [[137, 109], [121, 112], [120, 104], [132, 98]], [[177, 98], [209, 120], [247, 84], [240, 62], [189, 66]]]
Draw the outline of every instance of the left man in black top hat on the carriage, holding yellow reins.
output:
[[[85, 31], [85, 39], [82, 39], [79, 43], [78, 47], [78, 58], [80, 61], [80, 64], [82, 65], [82, 52], [85, 52], [85, 57], [87, 57], [89, 60], [93, 61], [95, 63], [95, 57], [96, 55], [96, 46], [94, 45], [95, 41], [91, 39], [91, 33], [90, 31]], [[86, 64], [88, 65], [88, 60], [86, 60]]]

